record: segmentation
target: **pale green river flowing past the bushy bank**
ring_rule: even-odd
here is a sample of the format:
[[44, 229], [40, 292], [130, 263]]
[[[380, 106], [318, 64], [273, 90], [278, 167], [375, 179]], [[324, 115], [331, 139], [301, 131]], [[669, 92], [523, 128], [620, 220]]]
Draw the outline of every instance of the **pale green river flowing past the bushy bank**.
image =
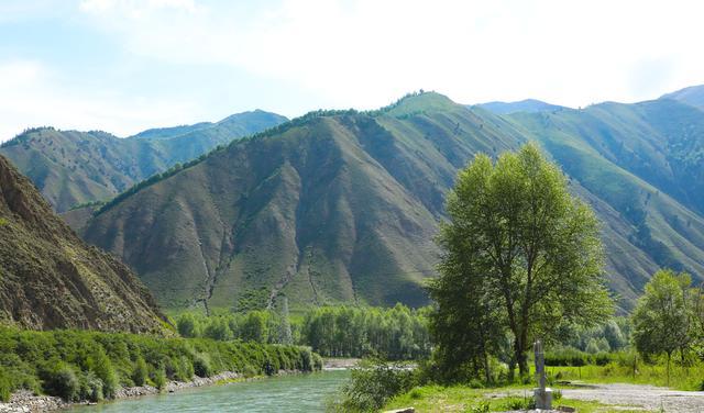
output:
[[349, 370], [272, 377], [77, 406], [68, 412], [324, 412], [326, 400], [349, 377]]

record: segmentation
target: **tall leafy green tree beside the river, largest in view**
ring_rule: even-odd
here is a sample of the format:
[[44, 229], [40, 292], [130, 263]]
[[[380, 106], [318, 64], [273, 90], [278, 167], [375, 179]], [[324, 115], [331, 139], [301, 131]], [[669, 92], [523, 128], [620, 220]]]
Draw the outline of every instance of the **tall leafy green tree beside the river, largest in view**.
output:
[[613, 311], [600, 224], [536, 145], [495, 163], [477, 155], [458, 175], [447, 212], [441, 276], [431, 286], [439, 304], [435, 320], [452, 321], [436, 323], [441, 348], [466, 336], [486, 350], [480, 337], [492, 338], [499, 326], [510, 333], [514, 361], [527, 375], [535, 337], [548, 339], [565, 323], [596, 324]]

